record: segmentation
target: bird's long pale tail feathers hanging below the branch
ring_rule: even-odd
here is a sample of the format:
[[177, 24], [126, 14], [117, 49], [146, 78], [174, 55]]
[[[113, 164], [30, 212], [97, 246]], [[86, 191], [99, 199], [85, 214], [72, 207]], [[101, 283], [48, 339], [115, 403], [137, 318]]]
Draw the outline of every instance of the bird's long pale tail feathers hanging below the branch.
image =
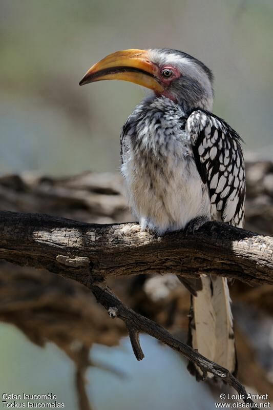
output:
[[236, 352], [227, 280], [207, 275], [201, 279], [202, 290], [192, 297], [192, 346], [207, 359], [234, 373]]

